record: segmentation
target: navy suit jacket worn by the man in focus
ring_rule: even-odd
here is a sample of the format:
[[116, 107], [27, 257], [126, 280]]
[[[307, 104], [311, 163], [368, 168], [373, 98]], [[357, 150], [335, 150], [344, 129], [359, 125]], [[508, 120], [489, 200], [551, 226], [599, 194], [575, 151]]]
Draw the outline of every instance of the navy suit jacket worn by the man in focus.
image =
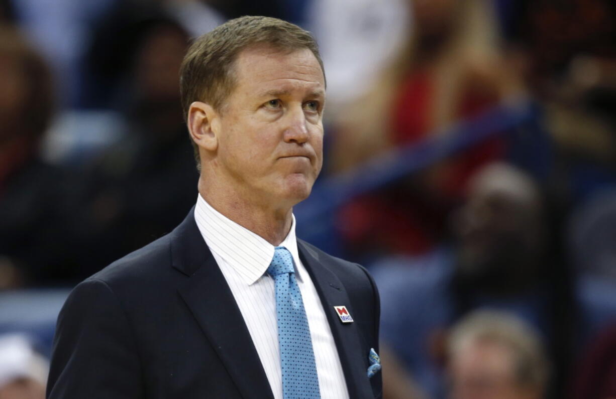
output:
[[[190, 211], [173, 232], [78, 284], [57, 322], [47, 397], [273, 398], [227, 281]], [[352, 399], [381, 397], [379, 297], [368, 272], [298, 240]], [[354, 323], [343, 324], [334, 306]]]

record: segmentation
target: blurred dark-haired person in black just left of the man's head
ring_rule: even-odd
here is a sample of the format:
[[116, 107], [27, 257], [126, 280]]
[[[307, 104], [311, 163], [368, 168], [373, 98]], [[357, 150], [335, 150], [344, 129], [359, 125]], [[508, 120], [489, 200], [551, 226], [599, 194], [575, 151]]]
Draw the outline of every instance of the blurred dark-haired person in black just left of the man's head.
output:
[[122, 84], [114, 97], [127, 129], [83, 167], [80, 278], [170, 232], [197, 195], [177, 81], [187, 33], [152, 10], [126, 14], [120, 23], [131, 40], [109, 36], [104, 47], [121, 49], [116, 67], [123, 69], [115, 73]]

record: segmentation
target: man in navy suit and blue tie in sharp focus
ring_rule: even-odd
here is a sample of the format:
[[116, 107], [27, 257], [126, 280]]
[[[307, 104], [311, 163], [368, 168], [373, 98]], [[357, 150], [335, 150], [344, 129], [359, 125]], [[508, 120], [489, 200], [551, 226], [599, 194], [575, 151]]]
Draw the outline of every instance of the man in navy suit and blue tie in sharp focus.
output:
[[241, 17], [180, 73], [197, 204], [169, 235], [79, 284], [49, 398], [375, 398], [379, 300], [365, 269], [295, 237], [322, 166], [314, 39]]

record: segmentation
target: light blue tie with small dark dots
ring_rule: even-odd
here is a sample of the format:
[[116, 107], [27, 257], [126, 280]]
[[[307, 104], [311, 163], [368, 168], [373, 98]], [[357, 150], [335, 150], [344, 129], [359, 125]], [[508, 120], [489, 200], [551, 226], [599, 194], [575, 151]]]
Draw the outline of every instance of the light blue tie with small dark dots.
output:
[[274, 278], [276, 287], [283, 396], [285, 399], [320, 398], [310, 328], [288, 249], [276, 247], [267, 274]]

